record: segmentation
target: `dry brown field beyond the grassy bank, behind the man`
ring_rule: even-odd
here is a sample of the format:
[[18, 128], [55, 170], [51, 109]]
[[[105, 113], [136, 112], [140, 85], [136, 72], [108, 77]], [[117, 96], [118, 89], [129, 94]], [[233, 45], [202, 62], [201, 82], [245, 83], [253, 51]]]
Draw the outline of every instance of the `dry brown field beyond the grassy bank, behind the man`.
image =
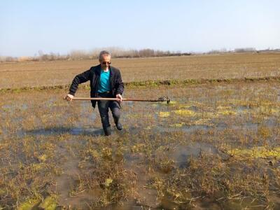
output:
[[[279, 76], [280, 54], [195, 55], [112, 59], [124, 82]], [[66, 85], [97, 60], [0, 64], [0, 88]]]

